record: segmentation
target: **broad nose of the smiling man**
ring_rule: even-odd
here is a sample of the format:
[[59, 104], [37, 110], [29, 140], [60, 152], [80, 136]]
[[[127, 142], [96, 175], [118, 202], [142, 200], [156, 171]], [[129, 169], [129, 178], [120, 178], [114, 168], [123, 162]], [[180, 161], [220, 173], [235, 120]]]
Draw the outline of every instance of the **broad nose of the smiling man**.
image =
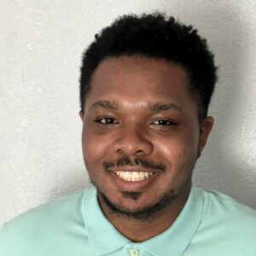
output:
[[127, 127], [122, 129], [119, 138], [115, 141], [113, 149], [117, 154], [143, 156], [151, 154], [153, 143], [147, 133], [140, 127]]

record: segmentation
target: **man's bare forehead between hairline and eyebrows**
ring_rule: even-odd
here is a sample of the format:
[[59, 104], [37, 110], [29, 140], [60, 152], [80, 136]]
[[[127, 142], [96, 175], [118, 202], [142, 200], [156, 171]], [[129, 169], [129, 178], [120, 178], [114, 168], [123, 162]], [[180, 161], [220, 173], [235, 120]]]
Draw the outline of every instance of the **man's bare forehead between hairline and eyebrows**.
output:
[[[138, 108], [148, 103], [191, 103], [189, 75], [183, 67], [162, 59], [138, 56], [108, 58], [96, 68], [86, 106], [97, 101]], [[192, 101], [193, 104], [194, 101]]]

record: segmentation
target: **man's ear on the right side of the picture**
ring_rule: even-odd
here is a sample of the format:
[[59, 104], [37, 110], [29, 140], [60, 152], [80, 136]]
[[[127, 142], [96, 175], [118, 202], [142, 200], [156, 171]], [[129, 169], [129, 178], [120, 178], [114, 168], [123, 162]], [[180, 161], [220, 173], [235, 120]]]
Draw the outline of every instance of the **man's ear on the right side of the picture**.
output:
[[213, 123], [214, 119], [211, 116], [207, 116], [201, 121], [197, 158], [201, 156], [201, 152], [207, 143], [207, 138], [212, 131]]

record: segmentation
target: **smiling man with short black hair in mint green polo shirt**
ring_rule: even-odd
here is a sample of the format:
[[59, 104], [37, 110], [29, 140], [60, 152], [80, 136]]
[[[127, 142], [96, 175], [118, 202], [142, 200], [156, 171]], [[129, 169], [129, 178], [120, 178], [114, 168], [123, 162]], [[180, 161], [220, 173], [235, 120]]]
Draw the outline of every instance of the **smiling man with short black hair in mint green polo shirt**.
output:
[[95, 187], [5, 224], [0, 255], [256, 255], [256, 212], [191, 184], [215, 82], [206, 40], [172, 17], [127, 15], [103, 29], [80, 79]]

